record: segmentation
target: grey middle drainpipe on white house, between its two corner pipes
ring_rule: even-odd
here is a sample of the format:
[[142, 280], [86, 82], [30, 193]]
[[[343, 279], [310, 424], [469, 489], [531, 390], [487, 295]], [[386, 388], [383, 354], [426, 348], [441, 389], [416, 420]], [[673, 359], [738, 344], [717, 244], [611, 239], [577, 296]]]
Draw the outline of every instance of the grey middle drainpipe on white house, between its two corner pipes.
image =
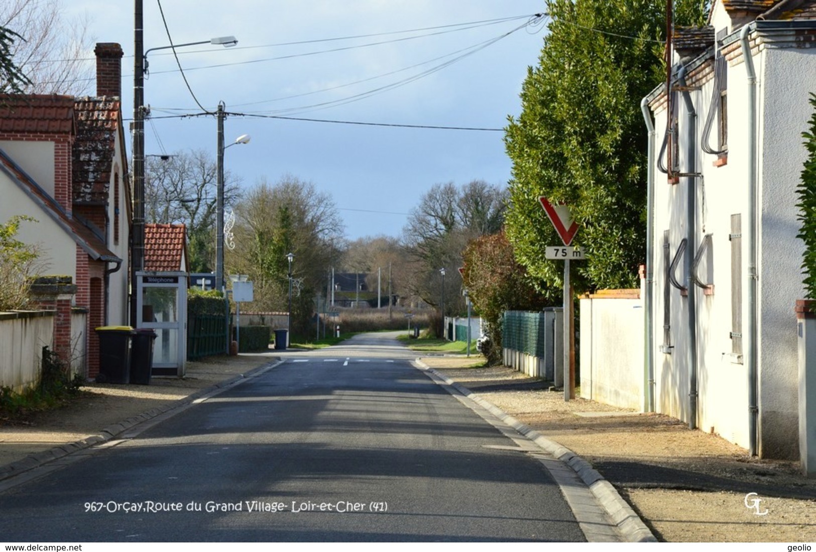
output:
[[685, 184], [688, 186], [688, 201], [686, 201], [686, 243], [689, 250], [684, 256], [685, 264], [685, 287], [689, 300], [689, 349], [687, 351], [689, 363], [689, 429], [697, 429], [697, 298], [696, 285], [694, 284], [694, 256], [693, 251], [696, 240], [697, 229], [697, 112], [694, 111], [694, 103], [691, 101], [688, 87], [685, 84], [685, 66], [681, 65], [677, 73], [677, 82], [681, 86], [681, 93], [685, 103], [687, 117], [689, 117], [689, 130], [686, 133], [685, 147]]

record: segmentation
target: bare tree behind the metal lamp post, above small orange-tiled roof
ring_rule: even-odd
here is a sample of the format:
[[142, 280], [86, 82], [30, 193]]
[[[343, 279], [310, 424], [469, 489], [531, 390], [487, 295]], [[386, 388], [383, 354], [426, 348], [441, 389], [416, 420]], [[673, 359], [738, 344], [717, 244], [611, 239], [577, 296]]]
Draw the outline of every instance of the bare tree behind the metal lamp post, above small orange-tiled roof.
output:
[[[211, 152], [203, 149], [148, 157], [144, 201], [148, 223], [187, 225], [190, 270], [215, 266], [215, 201], [218, 174]], [[240, 179], [224, 173], [224, 205], [234, 205]]]

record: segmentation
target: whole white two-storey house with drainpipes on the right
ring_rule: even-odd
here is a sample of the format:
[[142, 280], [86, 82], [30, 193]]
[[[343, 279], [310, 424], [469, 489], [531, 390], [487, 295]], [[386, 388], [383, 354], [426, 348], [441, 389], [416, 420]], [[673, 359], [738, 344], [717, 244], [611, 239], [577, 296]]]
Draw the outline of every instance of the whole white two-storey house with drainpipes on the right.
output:
[[762, 457], [795, 458], [796, 185], [816, 2], [718, 0], [709, 26], [678, 31], [674, 46], [672, 90], [645, 99], [657, 137], [655, 407]]

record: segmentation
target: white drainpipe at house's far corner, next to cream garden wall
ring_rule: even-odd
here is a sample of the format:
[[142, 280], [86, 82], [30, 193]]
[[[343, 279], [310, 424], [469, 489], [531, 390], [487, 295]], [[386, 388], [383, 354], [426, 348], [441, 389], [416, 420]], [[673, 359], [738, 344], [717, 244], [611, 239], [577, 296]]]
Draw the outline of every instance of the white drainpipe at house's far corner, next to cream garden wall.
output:
[[654, 311], [654, 123], [649, 113], [649, 100], [641, 99], [641, 112], [649, 130], [648, 165], [646, 167], [646, 289], [644, 298], [645, 308], [645, 411], [654, 412], [654, 327], [652, 315]]

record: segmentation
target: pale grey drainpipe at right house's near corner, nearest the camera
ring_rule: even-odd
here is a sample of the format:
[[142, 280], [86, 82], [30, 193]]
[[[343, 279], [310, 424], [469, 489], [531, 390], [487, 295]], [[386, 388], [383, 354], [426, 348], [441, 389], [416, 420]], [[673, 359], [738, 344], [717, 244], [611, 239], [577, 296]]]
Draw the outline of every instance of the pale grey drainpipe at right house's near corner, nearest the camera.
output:
[[749, 25], [745, 25], [739, 31], [739, 44], [743, 49], [745, 72], [748, 77], [748, 205], [745, 229], [748, 250], [748, 320], [747, 331], [745, 332], [745, 338], [747, 338], [745, 364], [748, 373], [748, 453], [751, 456], [756, 456], [759, 435], [757, 430], [759, 407], [757, 404], [758, 382], [756, 373], [756, 72], [754, 71], [754, 60], [751, 55], [751, 44], [748, 42], [748, 33], [750, 32]]

